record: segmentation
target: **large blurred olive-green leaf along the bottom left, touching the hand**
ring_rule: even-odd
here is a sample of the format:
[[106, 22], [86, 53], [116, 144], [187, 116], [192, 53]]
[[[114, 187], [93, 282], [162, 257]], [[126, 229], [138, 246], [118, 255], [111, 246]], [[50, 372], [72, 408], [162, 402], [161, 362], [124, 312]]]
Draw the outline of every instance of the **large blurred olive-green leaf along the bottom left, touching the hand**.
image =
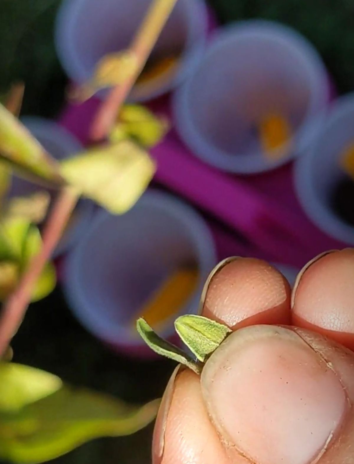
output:
[[108, 395], [63, 386], [17, 414], [0, 415], [0, 458], [42, 463], [93, 438], [129, 435], [148, 425], [158, 406], [159, 400], [128, 406]]

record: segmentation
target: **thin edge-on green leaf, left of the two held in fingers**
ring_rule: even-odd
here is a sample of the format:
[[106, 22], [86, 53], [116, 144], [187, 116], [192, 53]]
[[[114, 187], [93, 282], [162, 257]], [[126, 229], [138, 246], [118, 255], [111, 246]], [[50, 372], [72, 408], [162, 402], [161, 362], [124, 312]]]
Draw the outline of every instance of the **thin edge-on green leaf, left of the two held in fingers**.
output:
[[192, 369], [195, 373], [200, 374], [201, 366], [199, 363], [195, 362], [193, 358], [188, 356], [188, 354], [180, 348], [159, 337], [159, 335], [154, 332], [154, 330], [142, 317], [136, 321], [136, 329], [138, 330], [144, 342], [155, 353], [177, 361], [180, 364], [184, 364], [185, 366]]

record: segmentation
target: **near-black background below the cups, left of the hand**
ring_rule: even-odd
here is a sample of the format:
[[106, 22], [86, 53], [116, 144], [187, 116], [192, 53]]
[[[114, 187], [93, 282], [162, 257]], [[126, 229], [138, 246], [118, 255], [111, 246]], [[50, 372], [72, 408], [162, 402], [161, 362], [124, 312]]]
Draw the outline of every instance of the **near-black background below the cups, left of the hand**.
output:
[[[60, 289], [30, 306], [12, 346], [14, 362], [45, 369], [72, 385], [92, 388], [130, 403], [161, 397], [174, 369], [172, 361], [162, 358], [132, 362], [129, 357], [115, 354], [75, 321]], [[128, 437], [99, 438], [50, 462], [149, 463], [152, 429], [153, 424]]]

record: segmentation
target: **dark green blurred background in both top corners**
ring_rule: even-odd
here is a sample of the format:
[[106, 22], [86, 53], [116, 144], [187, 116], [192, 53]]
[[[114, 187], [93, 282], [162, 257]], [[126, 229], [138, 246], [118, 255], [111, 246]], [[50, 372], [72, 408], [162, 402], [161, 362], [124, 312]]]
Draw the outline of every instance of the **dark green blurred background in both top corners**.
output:
[[[317, 47], [340, 92], [354, 89], [354, 0], [208, 0], [222, 23], [247, 18], [282, 21]], [[23, 114], [55, 116], [66, 78], [54, 49], [60, 0], [0, 0], [0, 93], [26, 82]]]

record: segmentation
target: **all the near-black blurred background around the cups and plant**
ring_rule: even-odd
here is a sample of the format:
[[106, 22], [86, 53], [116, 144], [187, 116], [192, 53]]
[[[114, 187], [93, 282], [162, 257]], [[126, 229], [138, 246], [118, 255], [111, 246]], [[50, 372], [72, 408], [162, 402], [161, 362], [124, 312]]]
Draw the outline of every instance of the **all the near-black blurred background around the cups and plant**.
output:
[[[99, 1], [99, 0], [97, 0]], [[132, 0], [134, 1], [134, 0]], [[55, 54], [53, 23], [59, 0], [0, 0], [0, 93], [26, 82], [23, 114], [55, 117], [66, 78]], [[210, 0], [220, 23], [246, 18], [282, 21], [312, 41], [339, 93], [354, 88], [354, 0]], [[60, 288], [30, 307], [13, 340], [14, 361], [58, 374], [124, 400], [144, 402], [163, 393], [173, 364], [130, 361], [85, 332], [67, 309]], [[143, 386], [143, 387], [142, 387]], [[152, 425], [125, 438], [83, 445], [53, 463], [148, 464]]]

